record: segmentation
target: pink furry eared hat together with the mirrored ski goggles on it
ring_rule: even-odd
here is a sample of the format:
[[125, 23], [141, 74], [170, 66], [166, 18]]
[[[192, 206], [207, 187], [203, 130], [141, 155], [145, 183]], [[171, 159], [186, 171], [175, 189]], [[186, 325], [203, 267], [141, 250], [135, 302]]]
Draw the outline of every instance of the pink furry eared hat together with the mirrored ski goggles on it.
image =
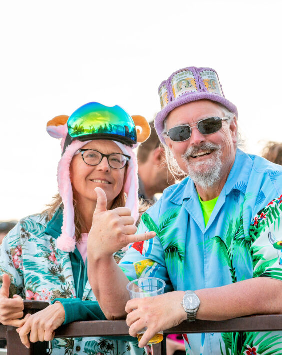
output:
[[133, 148], [150, 135], [150, 126], [142, 116], [130, 116], [119, 106], [107, 107], [98, 102], [87, 103], [71, 116], [56, 116], [47, 123], [47, 132], [61, 138], [62, 157], [58, 164], [57, 180], [63, 202], [63, 224], [57, 247], [63, 251], [75, 249], [73, 192], [70, 182], [70, 163], [74, 154], [95, 139], [113, 140], [121, 151], [130, 156], [124, 183], [125, 206], [138, 219], [138, 167]]

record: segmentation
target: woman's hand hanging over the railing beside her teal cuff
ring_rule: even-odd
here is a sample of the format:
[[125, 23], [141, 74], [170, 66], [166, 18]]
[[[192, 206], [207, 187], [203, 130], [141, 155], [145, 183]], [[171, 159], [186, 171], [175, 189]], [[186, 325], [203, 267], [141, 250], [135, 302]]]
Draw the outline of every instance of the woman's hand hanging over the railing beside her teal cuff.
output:
[[27, 314], [24, 318], [25, 324], [16, 329], [16, 331], [19, 333], [23, 345], [29, 349], [29, 341], [37, 342], [52, 340], [55, 335], [55, 330], [62, 325], [64, 320], [64, 307], [60, 302], [55, 302], [35, 314]]

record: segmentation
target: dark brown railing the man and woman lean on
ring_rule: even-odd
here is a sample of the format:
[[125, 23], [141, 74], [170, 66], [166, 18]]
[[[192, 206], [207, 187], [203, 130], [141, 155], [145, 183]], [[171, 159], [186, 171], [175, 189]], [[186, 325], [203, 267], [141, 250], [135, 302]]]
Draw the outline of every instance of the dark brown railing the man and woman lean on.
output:
[[[45, 308], [48, 303], [24, 301], [25, 312], [34, 313]], [[282, 330], [282, 314], [255, 315], [229, 319], [224, 321], [196, 320], [193, 323], [183, 322], [180, 325], [165, 330], [168, 334], [197, 332], [232, 332], [232, 331], [272, 331]], [[55, 337], [87, 337], [87, 336], [122, 336], [128, 335], [128, 326], [124, 320], [79, 321], [63, 325], [56, 330]], [[0, 339], [7, 340], [7, 355], [39, 355], [44, 354], [47, 343], [37, 342], [31, 348], [24, 347], [14, 327], [0, 324]], [[166, 354], [166, 342], [153, 345], [154, 355]]]

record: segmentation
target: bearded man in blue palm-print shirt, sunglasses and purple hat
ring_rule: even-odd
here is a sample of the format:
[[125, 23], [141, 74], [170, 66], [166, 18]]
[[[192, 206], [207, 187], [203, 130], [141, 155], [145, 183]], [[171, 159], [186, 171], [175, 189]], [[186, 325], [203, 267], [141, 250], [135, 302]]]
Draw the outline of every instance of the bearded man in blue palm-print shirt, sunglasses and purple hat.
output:
[[[184, 92], [178, 87], [183, 79], [191, 83]], [[99, 225], [107, 222], [109, 212], [97, 189], [88, 237], [89, 279], [99, 304], [109, 319], [127, 312], [133, 336], [147, 327], [140, 347], [158, 331], [185, 320], [282, 313], [277, 250], [271, 243], [258, 249], [258, 235], [249, 232], [256, 213], [281, 195], [282, 168], [237, 148], [237, 109], [224, 97], [213, 69], [181, 69], [162, 82], [159, 94], [163, 106], [155, 118], [156, 131], [171, 167], [189, 177], [168, 187], [142, 215], [136, 235], [131, 235], [124, 211], [115, 217], [115, 233], [101, 232]], [[151, 238], [153, 232], [156, 237]], [[119, 264], [121, 273], [111, 255], [133, 241]], [[167, 293], [128, 300], [125, 275], [162, 278]], [[185, 339], [189, 355], [249, 355], [258, 348], [257, 353], [271, 349], [269, 353], [281, 354], [282, 348], [281, 337], [271, 332], [189, 334]]]

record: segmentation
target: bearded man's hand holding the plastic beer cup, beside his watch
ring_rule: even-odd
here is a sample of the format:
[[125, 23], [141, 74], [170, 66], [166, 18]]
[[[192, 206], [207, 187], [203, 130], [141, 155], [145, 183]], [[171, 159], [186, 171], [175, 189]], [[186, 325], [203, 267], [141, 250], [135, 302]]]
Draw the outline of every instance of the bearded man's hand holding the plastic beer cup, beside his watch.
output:
[[127, 302], [125, 311], [128, 313], [126, 323], [129, 334], [137, 333], [147, 327], [138, 346], [144, 347], [159, 331], [172, 328], [187, 319], [181, 305], [183, 291], [168, 292], [155, 297], [134, 298]]

